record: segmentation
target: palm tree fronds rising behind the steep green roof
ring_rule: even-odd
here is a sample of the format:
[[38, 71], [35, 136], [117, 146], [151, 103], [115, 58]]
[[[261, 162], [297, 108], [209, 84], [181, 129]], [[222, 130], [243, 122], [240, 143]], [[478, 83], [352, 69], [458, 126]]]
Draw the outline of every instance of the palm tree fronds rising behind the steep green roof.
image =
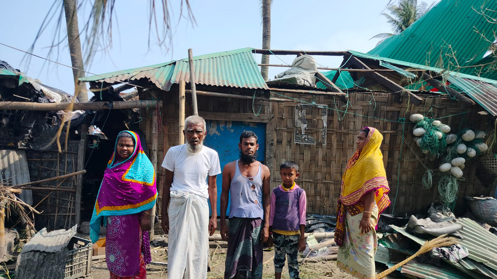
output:
[[423, 16], [434, 4], [433, 2], [428, 6], [425, 2], [417, 4], [417, 0], [399, 0], [397, 5], [389, 5], [387, 9], [391, 15], [388, 13], [382, 13], [382, 15], [387, 18], [393, 33], [380, 33], [371, 39], [381, 39], [379, 42], [381, 43], [385, 39], [401, 33]]

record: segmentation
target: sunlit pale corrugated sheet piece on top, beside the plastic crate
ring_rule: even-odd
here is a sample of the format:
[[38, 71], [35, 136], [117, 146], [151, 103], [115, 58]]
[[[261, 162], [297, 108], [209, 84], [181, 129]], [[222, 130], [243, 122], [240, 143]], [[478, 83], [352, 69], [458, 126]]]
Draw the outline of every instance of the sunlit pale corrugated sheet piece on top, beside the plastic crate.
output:
[[61, 251], [62, 248], [66, 247], [76, 235], [76, 228], [78, 225], [74, 225], [72, 228], [65, 230], [54, 230], [47, 232], [46, 228], [38, 231], [31, 240], [22, 247], [21, 254], [29, 251], [41, 251], [47, 253], [54, 253]]

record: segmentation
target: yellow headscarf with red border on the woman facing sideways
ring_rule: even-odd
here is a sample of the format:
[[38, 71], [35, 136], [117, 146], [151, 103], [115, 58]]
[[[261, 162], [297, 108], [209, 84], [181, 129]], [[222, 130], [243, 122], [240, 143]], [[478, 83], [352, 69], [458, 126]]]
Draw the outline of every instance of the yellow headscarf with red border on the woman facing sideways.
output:
[[383, 165], [383, 154], [380, 150], [383, 136], [372, 127], [369, 129], [362, 151], [356, 150], [347, 163], [342, 176], [340, 199], [338, 200], [335, 242], [341, 246], [345, 226], [345, 210], [351, 215], [364, 211], [362, 197], [375, 191], [375, 202], [378, 215], [389, 205], [387, 175]]

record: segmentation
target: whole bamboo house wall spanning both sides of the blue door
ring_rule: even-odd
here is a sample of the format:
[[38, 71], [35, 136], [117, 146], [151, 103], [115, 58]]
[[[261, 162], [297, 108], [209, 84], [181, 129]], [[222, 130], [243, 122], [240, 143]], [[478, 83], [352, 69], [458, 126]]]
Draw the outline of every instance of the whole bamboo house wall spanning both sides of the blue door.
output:
[[[167, 149], [177, 145], [178, 141], [178, 92], [177, 87], [173, 87], [169, 92], [159, 91], [151, 94], [164, 101], [160, 117], [163, 127], [159, 130], [159, 135], [152, 135], [150, 110], [142, 110], [143, 121], [140, 127], [146, 133], [149, 149], [154, 138], [159, 140], [157, 178], [159, 194], [162, 197], [164, 169], [160, 165]], [[461, 102], [444, 97], [425, 96], [423, 105], [419, 107], [399, 103], [398, 96], [390, 93], [373, 95], [370, 92], [353, 92], [350, 93], [348, 106], [343, 100], [332, 96], [286, 94], [276, 97], [280, 99], [291, 97], [300, 101], [291, 99], [285, 102], [255, 101], [253, 104], [256, 112], [260, 107], [261, 114], [274, 115], [266, 125], [265, 161], [271, 171], [271, 187], [281, 183], [279, 165], [283, 161], [298, 162], [300, 165], [298, 184], [307, 192], [307, 210], [319, 214], [335, 212], [341, 175], [347, 160], [355, 150], [355, 137], [362, 127], [372, 126], [383, 134], [382, 152], [391, 187], [390, 197], [392, 202], [395, 201], [394, 213], [408, 214], [426, 210], [431, 203], [438, 201], [437, 175], [433, 177], [433, 187], [424, 189], [421, 178], [425, 169], [421, 162], [434, 170], [438, 168], [439, 163], [437, 160], [430, 161], [414, 144], [411, 133], [414, 124], [406, 123], [403, 129], [399, 118], [409, 118], [412, 113], [421, 113], [433, 118], [446, 117], [441, 121], [449, 125], [453, 131], [467, 127], [485, 130], [489, 121], [488, 116], [478, 114], [483, 110], [481, 107], [465, 108]], [[141, 98], [149, 97], [141, 96]], [[299, 103], [303, 106], [298, 106]], [[317, 106], [309, 105], [313, 103]], [[188, 116], [191, 115], [189, 94], [186, 95], [186, 104], [185, 114]], [[251, 100], [198, 96], [198, 106], [201, 116], [201, 112], [229, 113], [234, 117], [237, 113], [253, 112]], [[305, 120], [303, 110], [305, 110]], [[299, 116], [299, 113], [300, 117], [296, 120], [295, 116]], [[302, 135], [300, 124], [306, 121], [307, 128]], [[402, 135], [405, 144], [401, 144]], [[464, 196], [487, 195], [489, 192], [489, 189], [482, 187], [476, 178], [476, 167], [476, 161], [466, 163], [464, 180], [459, 182], [456, 211], [465, 211]], [[392, 204], [388, 210], [391, 212], [393, 209]], [[159, 198], [158, 212], [159, 215], [162, 212], [161, 198]]]

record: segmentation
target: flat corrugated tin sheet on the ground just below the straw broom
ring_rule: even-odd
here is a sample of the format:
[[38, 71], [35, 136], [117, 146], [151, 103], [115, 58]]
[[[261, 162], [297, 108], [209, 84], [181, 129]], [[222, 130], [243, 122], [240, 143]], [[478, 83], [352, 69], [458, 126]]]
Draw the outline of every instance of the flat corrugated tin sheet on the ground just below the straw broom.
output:
[[421, 279], [466, 279], [465, 274], [459, 274], [455, 270], [440, 268], [432, 265], [415, 263], [413, 261], [405, 264], [401, 269], [402, 275], [409, 278]]

